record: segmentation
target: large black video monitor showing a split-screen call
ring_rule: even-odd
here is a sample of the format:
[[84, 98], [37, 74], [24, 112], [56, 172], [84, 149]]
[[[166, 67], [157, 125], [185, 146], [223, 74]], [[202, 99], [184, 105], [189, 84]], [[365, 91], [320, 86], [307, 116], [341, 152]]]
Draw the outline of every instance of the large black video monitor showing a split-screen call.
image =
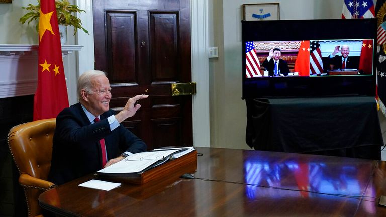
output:
[[373, 96], [375, 54], [375, 19], [243, 21], [243, 98]]

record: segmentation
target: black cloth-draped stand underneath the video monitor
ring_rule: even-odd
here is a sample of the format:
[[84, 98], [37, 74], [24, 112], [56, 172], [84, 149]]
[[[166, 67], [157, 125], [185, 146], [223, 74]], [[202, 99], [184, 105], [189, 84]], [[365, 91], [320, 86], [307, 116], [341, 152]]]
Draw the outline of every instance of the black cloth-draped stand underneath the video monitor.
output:
[[255, 150], [381, 159], [374, 97], [245, 101], [246, 143]]

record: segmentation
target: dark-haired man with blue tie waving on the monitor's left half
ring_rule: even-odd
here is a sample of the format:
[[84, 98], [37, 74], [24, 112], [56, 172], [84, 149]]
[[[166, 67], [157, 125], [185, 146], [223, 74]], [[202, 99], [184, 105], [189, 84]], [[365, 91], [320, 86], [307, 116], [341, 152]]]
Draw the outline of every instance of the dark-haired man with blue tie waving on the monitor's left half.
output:
[[268, 70], [269, 76], [287, 76], [289, 72], [288, 63], [280, 59], [280, 48], [274, 48], [269, 51], [269, 56], [264, 60], [263, 66]]

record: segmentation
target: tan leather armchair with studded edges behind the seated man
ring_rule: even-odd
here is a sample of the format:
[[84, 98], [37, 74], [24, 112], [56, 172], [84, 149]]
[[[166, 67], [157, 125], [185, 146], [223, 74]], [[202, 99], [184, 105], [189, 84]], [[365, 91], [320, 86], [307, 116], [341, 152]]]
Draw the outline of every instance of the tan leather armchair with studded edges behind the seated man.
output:
[[19, 170], [19, 184], [24, 188], [28, 216], [42, 216], [39, 195], [55, 184], [47, 180], [51, 167], [52, 137], [56, 119], [33, 121], [11, 128], [8, 146]]

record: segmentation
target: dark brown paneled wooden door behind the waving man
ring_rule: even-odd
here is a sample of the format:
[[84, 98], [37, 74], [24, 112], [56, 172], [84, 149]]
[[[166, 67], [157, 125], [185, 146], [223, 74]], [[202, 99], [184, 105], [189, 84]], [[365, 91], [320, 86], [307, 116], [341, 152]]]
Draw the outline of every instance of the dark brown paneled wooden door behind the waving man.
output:
[[192, 97], [171, 84], [191, 82], [190, 1], [93, 1], [95, 69], [107, 72], [110, 107], [135, 95], [135, 116], [123, 122], [148, 149], [192, 145]]

